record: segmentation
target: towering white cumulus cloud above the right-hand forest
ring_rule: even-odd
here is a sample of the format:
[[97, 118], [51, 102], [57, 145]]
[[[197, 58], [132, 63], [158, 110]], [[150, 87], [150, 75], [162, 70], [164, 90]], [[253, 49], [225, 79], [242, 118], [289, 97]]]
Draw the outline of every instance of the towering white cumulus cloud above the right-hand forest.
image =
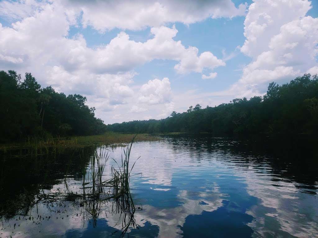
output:
[[259, 0], [245, 18], [246, 37], [241, 52], [252, 57], [237, 83], [225, 92], [254, 96], [266, 92], [270, 82], [288, 82], [315, 71], [318, 54], [318, 18], [306, 16], [307, 0]]

